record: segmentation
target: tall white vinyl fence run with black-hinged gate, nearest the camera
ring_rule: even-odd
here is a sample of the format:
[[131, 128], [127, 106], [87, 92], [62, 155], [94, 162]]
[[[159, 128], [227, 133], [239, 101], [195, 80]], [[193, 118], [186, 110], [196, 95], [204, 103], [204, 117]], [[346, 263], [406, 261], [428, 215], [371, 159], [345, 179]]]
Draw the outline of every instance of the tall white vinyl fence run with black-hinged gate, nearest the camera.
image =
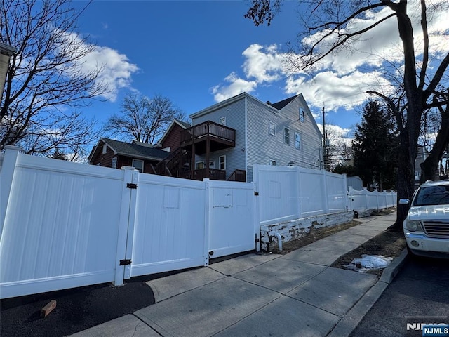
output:
[[0, 158], [0, 298], [208, 265], [255, 249], [253, 183]]

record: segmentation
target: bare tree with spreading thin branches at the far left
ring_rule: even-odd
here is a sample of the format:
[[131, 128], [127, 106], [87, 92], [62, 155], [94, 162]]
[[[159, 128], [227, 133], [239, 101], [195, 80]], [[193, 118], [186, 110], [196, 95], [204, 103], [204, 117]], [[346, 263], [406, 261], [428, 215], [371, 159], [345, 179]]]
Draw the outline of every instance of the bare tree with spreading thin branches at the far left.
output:
[[77, 15], [69, 0], [1, 0], [0, 41], [17, 53], [1, 100], [0, 146], [73, 158], [98, 138], [95, 121], [77, 111], [106, 93], [96, 81], [101, 66], [83, 68], [95, 46], [75, 33]]

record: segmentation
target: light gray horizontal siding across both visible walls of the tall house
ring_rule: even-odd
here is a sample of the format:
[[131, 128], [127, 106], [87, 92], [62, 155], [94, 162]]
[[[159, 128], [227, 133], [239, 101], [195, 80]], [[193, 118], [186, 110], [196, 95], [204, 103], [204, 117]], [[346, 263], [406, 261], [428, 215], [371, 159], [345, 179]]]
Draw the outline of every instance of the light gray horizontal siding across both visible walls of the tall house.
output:
[[[300, 121], [300, 107], [304, 110], [304, 121]], [[221, 117], [226, 117], [226, 126], [236, 129], [236, 146], [211, 152], [210, 161], [215, 160], [215, 167], [218, 168], [218, 158], [226, 155], [227, 178], [234, 169], [244, 169], [246, 181], [253, 181], [253, 164], [269, 165], [270, 160], [280, 166], [293, 161], [298, 166], [321, 169], [323, 136], [302, 95], [297, 95], [281, 110], [250, 95], [242, 95], [241, 99], [200, 114], [192, 120], [195, 125], [204, 121], [219, 123]], [[274, 136], [269, 133], [270, 121], [276, 124]], [[290, 130], [288, 145], [284, 143], [284, 128]], [[301, 137], [299, 150], [295, 147], [295, 132]], [[196, 161], [205, 161], [205, 156], [197, 156]]]

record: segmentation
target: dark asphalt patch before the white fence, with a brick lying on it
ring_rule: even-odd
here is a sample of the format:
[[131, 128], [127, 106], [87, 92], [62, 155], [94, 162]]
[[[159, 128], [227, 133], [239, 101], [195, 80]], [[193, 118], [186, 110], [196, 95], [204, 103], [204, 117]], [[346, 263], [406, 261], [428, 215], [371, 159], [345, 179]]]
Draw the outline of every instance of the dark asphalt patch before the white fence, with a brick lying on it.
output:
[[[41, 308], [56, 300], [45, 318]], [[154, 304], [152, 289], [140, 279], [124, 286], [98, 284], [1, 300], [1, 337], [66, 336]]]

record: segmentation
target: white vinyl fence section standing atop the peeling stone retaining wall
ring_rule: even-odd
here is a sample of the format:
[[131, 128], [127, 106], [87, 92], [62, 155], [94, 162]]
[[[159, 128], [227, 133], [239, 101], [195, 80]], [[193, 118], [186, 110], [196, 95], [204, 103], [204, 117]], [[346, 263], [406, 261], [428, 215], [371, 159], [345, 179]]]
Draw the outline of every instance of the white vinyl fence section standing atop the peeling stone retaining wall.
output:
[[260, 194], [260, 224], [349, 209], [346, 175], [299, 166], [253, 166]]

